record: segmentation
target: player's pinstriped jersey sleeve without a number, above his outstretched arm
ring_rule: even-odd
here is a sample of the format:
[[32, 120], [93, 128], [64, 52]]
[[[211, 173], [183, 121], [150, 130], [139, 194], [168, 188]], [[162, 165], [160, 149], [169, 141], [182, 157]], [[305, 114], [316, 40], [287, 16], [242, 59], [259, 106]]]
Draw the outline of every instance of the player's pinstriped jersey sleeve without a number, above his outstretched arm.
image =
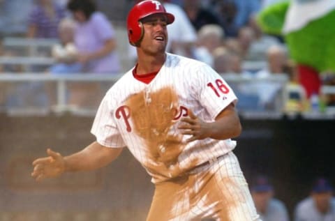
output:
[[96, 113], [91, 133], [96, 136], [96, 141], [107, 147], [120, 148], [126, 146], [117, 128], [112, 108], [112, 95], [106, 93]]

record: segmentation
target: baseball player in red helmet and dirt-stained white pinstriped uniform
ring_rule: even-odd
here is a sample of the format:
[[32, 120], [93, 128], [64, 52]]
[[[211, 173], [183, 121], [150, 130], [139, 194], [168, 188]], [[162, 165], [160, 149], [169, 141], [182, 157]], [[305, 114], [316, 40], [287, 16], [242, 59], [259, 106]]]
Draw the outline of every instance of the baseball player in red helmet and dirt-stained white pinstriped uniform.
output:
[[131, 9], [137, 64], [105, 94], [91, 128], [96, 142], [65, 157], [48, 149], [31, 175], [41, 181], [103, 167], [126, 146], [155, 185], [148, 221], [259, 220], [232, 153], [230, 138], [241, 133], [237, 98], [206, 64], [165, 52], [172, 22], [159, 1]]

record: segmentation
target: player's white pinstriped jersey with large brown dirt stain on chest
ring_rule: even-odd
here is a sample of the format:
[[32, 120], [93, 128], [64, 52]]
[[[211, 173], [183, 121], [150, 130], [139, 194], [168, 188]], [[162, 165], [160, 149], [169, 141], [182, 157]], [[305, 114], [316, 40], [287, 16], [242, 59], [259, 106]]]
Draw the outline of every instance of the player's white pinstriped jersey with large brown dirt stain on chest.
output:
[[236, 142], [231, 139], [186, 143], [189, 135], [181, 135], [177, 127], [188, 109], [204, 121], [214, 121], [236, 101], [230, 86], [209, 66], [167, 54], [149, 84], [129, 70], [107, 91], [91, 132], [103, 146], [127, 146], [151, 181], [159, 183], [232, 151]]

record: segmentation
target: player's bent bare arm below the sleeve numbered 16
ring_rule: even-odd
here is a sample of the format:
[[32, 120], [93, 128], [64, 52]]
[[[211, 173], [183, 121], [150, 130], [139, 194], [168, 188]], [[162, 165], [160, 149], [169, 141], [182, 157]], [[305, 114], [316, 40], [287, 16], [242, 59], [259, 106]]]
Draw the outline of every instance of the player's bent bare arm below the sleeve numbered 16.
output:
[[188, 111], [188, 117], [181, 119], [183, 123], [179, 126], [183, 135], [192, 135], [188, 142], [195, 139], [229, 139], [241, 134], [241, 123], [237, 110], [233, 103], [230, 103], [223, 109], [214, 122], [204, 122], [195, 116], [191, 110]]

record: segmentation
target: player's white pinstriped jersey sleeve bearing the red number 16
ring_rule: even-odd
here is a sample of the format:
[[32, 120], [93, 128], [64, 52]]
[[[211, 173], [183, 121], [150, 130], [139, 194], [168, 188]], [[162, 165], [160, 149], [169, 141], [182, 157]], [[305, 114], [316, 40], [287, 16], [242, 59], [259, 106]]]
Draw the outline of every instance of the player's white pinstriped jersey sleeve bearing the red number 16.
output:
[[200, 66], [194, 79], [193, 96], [209, 112], [211, 119], [215, 119], [231, 102], [237, 102], [234, 91], [210, 66]]

